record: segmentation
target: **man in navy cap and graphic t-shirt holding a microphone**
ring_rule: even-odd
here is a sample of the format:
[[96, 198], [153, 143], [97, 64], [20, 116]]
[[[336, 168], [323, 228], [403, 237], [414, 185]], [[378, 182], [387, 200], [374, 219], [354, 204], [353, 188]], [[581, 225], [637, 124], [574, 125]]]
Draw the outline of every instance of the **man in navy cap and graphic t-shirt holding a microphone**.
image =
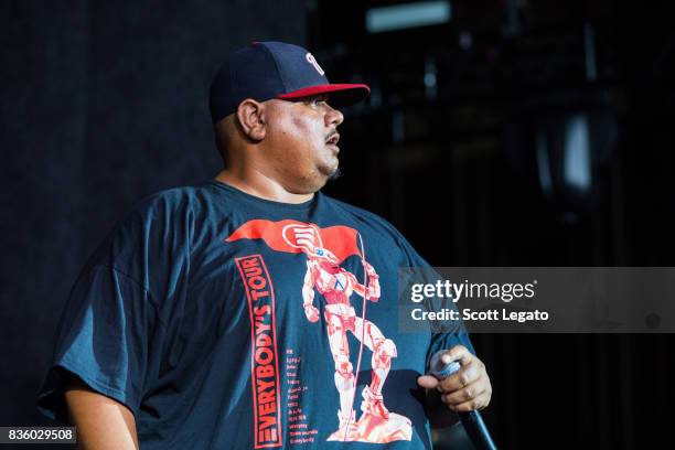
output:
[[[329, 84], [296, 45], [224, 64], [211, 113], [225, 169], [139, 204], [73, 288], [40, 406], [82, 447], [425, 448], [420, 388], [456, 411], [489, 404], [462, 328], [397, 330], [397, 270], [426, 262], [320, 192], [339, 167], [332, 106], [367, 93]], [[463, 365], [441, 383], [420, 376], [440, 350]]]

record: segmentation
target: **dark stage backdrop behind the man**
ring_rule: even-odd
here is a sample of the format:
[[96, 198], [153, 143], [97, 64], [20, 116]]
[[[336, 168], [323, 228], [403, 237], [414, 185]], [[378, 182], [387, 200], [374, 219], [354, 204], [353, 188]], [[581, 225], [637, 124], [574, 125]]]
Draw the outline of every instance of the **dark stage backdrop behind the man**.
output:
[[[665, 9], [457, 1], [457, 24], [435, 40], [361, 42], [358, 11], [376, 3], [384, 1], [0, 1], [0, 426], [49, 424], [34, 394], [61, 308], [114, 223], [139, 199], [219, 170], [208, 84], [223, 57], [251, 40], [304, 42], [333, 78], [358, 74], [376, 86], [381, 107], [345, 111], [344, 176], [326, 191], [390, 219], [431, 262], [675, 266]], [[503, 10], [511, 3], [527, 6], [515, 14], [523, 29], [539, 28], [513, 38], [518, 21]], [[549, 21], [537, 24], [547, 10]], [[599, 25], [599, 52], [611, 63], [619, 130], [597, 203], [565, 215], [532, 170], [517, 167], [526, 158], [514, 163], [524, 143], [511, 119], [542, 113], [536, 97], [560, 88], [546, 73], [559, 82], [574, 72], [574, 57], [536, 57], [578, 52], [586, 20]], [[462, 31], [471, 50], [458, 50]], [[432, 47], [452, 49], [443, 56], [451, 64], [438, 61], [437, 103], [425, 103], [424, 86], [415, 97], [419, 81], [387, 97], [387, 86], [424, 75], [415, 57]], [[444, 92], [443, 71], [453, 86]], [[401, 124], [403, 135], [394, 131]], [[493, 379], [484, 417], [500, 448], [672, 447], [672, 336], [473, 341]]]

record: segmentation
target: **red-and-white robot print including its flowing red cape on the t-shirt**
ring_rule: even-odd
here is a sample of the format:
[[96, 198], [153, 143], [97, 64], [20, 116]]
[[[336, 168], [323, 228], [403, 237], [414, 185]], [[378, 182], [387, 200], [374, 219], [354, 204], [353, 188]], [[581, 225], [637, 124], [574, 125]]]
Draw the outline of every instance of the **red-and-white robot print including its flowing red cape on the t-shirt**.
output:
[[[340, 404], [336, 405], [336, 429], [326, 437], [329, 441], [357, 441], [386, 443], [411, 440], [410, 419], [389, 411], [382, 394], [385, 381], [396, 357], [396, 344], [386, 339], [376, 324], [367, 320], [367, 302], [379, 300], [379, 277], [367, 262], [361, 236], [347, 226], [321, 228], [315, 224], [298, 221], [271, 222], [254, 219], [237, 228], [226, 242], [262, 239], [271, 249], [307, 256], [307, 271], [298, 280], [308, 325], [320, 320], [314, 306], [318, 292], [325, 299], [323, 320], [328, 341], [335, 364], [334, 383]], [[365, 279], [341, 266], [350, 256], [361, 258]], [[357, 317], [351, 298], [361, 299], [363, 317]], [[350, 335], [361, 344], [358, 355], [350, 355]], [[356, 414], [356, 376], [361, 368], [363, 347], [371, 352], [372, 378], [361, 393], [361, 413]], [[354, 357], [352, 357], [354, 356]], [[354, 363], [352, 362], [354, 361]]]

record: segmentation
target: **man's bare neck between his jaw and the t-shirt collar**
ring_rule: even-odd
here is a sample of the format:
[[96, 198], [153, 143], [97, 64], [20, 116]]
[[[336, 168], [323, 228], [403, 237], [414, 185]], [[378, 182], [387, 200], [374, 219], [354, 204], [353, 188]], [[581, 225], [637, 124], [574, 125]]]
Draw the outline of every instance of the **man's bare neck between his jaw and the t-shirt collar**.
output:
[[221, 171], [215, 179], [247, 194], [275, 202], [298, 204], [308, 202], [314, 196], [314, 193], [291, 192], [279, 181], [255, 169], [228, 168]]

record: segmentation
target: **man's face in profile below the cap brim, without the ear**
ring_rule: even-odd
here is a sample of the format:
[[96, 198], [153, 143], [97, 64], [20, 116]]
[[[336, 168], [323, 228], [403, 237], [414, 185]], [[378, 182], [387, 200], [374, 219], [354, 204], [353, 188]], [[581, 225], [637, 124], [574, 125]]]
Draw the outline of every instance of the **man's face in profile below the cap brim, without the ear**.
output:
[[291, 192], [317, 192], [339, 173], [342, 113], [330, 107], [325, 95], [267, 104], [267, 161]]

